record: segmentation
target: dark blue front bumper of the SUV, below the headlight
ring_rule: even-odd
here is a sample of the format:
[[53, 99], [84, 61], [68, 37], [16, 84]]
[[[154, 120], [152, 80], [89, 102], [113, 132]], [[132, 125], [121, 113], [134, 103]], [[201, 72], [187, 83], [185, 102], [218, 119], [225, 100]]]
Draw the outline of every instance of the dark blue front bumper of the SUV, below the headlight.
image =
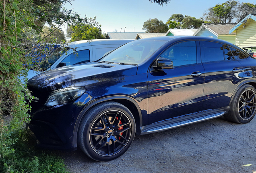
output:
[[38, 145], [56, 149], [75, 149], [74, 127], [78, 115], [91, 99], [92, 97], [85, 93], [76, 101], [54, 107], [38, 107], [34, 105], [36, 103], [31, 104], [31, 121], [27, 126], [34, 133]]

